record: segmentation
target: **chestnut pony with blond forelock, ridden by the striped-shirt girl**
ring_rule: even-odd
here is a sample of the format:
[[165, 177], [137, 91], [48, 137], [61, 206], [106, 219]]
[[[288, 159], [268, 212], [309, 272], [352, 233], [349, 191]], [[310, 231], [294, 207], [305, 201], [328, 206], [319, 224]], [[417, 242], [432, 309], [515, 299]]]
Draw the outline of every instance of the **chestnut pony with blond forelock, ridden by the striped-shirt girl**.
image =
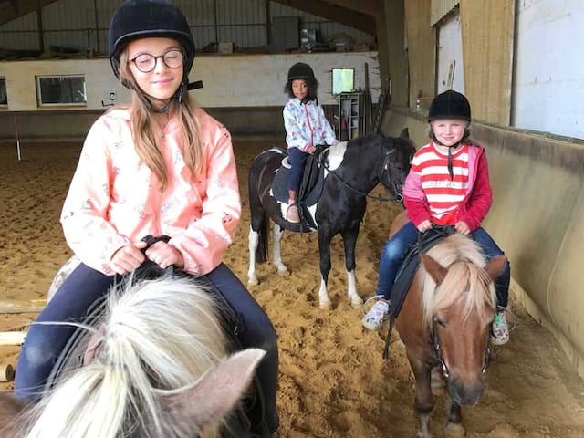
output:
[[[391, 235], [406, 221], [405, 214], [400, 214], [391, 224]], [[436, 366], [442, 367], [451, 398], [446, 436], [464, 436], [461, 405], [474, 406], [483, 395], [495, 318], [493, 281], [503, 272], [506, 257], [486, 263], [471, 238], [454, 234], [421, 258], [395, 322], [416, 380], [418, 436], [430, 436], [431, 371]]]

